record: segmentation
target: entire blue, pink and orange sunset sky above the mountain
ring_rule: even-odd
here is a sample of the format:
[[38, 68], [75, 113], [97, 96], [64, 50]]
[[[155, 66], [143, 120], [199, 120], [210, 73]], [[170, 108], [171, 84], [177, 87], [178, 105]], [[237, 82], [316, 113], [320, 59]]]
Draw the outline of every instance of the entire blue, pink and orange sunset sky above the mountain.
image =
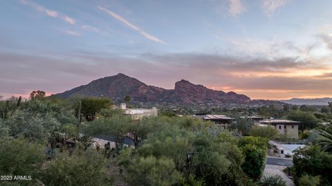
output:
[[124, 73], [252, 99], [332, 97], [331, 0], [0, 0], [0, 95]]

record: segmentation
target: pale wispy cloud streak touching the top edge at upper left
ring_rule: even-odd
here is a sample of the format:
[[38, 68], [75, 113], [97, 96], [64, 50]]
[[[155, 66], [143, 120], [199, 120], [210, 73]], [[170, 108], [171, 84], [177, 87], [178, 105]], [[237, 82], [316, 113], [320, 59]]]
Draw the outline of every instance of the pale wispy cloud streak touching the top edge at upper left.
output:
[[38, 3], [35, 3], [34, 1], [30, 0], [21, 0], [22, 3], [34, 8], [35, 10], [39, 12], [44, 12], [46, 15], [50, 17], [59, 17], [62, 20], [66, 21], [68, 24], [75, 24], [75, 19], [68, 17], [68, 15], [61, 15], [61, 13], [55, 11], [55, 10], [49, 10], [45, 8], [44, 6], [39, 5]]

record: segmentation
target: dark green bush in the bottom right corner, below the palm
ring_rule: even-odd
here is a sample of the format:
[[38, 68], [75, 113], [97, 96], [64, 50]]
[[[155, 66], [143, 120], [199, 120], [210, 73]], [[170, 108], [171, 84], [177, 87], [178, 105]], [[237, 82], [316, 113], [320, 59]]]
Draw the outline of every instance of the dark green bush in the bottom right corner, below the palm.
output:
[[293, 178], [295, 185], [299, 185], [299, 179], [309, 176], [321, 176], [320, 185], [331, 185], [332, 155], [321, 150], [320, 146], [307, 146], [296, 149], [293, 155]]

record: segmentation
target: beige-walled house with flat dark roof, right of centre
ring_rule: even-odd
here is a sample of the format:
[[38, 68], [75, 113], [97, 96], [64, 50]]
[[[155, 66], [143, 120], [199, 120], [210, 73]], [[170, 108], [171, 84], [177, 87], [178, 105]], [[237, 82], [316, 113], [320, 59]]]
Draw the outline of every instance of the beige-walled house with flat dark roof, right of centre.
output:
[[301, 122], [292, 120], [261, 120], [260, 124], [273, 125], [280, 134], [286, 135], [286, 138], [299, 138], [299, 124], [301, 124]]

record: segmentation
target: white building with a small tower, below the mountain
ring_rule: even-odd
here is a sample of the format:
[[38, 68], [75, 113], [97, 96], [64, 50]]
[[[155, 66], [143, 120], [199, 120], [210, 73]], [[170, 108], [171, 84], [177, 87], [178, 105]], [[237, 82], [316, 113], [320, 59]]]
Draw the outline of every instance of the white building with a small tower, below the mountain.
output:
[[156, 107], [152, 109], [127, 109], [125, 103], [120, 104], [120, 109], [124, 111], [124, 114], [131, 115], [133, 120], [140, 120], [144, 117], [153, 117], [158, 115], [158, 110]]

